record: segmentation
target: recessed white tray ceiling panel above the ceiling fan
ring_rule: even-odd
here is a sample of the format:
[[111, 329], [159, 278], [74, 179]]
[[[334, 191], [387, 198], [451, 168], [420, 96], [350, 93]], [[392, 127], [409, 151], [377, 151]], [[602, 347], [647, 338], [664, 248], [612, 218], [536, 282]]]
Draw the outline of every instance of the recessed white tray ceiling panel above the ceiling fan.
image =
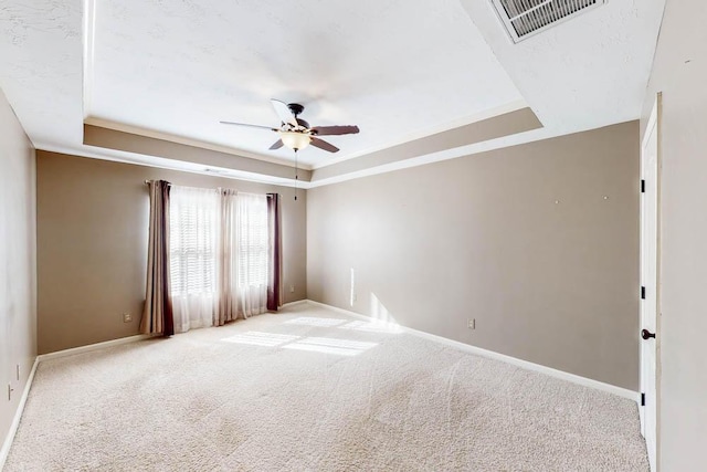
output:
[[88, 116], [283, 159], [276, 134], [218, 122], [277, 127], [273, 97], [361, 128], [313, 166], [521, 99], [457, 0], [105, 0], [95, 19]]

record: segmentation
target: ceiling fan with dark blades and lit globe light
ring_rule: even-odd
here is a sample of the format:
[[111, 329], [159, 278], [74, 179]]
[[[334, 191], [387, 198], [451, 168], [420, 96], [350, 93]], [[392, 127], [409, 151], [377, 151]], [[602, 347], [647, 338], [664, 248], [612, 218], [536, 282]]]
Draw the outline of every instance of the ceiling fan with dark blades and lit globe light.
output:
[[220, 122], [223, 125], [236, 125], [249, 126], [251, 128], [270, 129], [279, 135], [270, 149], [279, 149], [283, 146], [287, 146], [295, 151], [302, 150], [305, 147], [312, 145], [319, 149], [328, 150], [329, 153], [336, 153], [338, 147], [330, 143], [319, 139], [317, 136], [335, 136], [335, 135], [352, 135], [359, 132], [356, 125], [345, 126], [314, 126], [310, 127], [309, 123], [302, 118], [298, 118], [299, 114], [304, 112], [305, 107], [298, 103], [286, 104], [278, 99], [272, 98], [271, 103], [275, 113], [279, 117], [282, 124], [278, 128], [272, 128], [268, 126], [250, 125], [247, 123], [233, 123], [233, 122]]

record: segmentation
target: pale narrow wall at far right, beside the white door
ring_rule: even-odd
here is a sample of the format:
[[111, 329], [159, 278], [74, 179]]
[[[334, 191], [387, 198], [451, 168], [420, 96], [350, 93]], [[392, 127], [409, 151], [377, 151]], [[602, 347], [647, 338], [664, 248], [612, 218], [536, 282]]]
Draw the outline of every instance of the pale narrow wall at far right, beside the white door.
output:
[[668, 0], [641, 128], [662, 92], [661, 471], [705, 468], [707, 445], [707, 4]]

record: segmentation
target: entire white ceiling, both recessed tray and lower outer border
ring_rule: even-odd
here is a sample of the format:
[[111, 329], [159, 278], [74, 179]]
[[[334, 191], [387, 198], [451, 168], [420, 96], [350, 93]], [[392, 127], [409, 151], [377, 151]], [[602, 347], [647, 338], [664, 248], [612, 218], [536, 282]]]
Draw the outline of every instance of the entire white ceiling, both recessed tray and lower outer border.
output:
[[266, 160], [292, 156], [218, 120], [276, 125], [275, 97], [360, 126], [327, 137], [337, 155], [302, 151], [315, 168], [524, 103], [545, 126], [453, 158], [637, 118], [664, 3], [611, 0], [513, 44], [489, 0], [3, 0], [0, 87], [40, 149], [160, 167], [83, 145], [84, 118]]

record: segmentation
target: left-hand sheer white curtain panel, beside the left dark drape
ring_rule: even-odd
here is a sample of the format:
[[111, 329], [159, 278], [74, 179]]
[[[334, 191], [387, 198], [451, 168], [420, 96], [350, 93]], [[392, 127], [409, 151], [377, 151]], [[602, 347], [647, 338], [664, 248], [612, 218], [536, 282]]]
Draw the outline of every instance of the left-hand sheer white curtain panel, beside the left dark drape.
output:
[[218, 313], [219, 202], [215, 189], [171, 189], [170, 276], [177, 333], [211, 326]]

